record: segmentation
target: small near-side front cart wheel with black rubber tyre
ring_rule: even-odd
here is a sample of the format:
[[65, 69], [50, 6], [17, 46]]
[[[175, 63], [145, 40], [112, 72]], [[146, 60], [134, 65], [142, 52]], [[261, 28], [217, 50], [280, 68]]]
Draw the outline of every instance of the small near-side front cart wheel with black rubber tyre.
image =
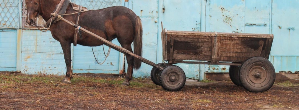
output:
[[176, 65], [166, 66], [160, 75], [162, 88], [167, 91], [179, 91], [186, 82], [185, 72]]

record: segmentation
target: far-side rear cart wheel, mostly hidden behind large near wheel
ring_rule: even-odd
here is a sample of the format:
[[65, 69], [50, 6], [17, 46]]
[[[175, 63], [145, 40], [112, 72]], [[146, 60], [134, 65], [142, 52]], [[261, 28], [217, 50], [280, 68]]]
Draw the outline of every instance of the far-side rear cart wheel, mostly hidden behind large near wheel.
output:
[[240, 82], [240, 77], [239, 77], [239, 66], [229, 66], [229, 78], [231, 78], [231, 81], [237, 85], [237, 86], [242, 86]]

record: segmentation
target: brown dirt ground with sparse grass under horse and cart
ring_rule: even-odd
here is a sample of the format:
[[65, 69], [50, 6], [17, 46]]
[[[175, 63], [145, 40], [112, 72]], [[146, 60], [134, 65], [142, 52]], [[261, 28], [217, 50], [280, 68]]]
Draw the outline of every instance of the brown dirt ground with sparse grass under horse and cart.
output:
[[[165, 91], [149, 78], [121, 86], [122, 78], [0, 73], [0, 109], [299, 109], [299, 80], [275, 81], [263, 93], [251, 93], [231, 81], [188, 81], [180, 91]], [[194, 83], [197, 83], [194, 85]]]

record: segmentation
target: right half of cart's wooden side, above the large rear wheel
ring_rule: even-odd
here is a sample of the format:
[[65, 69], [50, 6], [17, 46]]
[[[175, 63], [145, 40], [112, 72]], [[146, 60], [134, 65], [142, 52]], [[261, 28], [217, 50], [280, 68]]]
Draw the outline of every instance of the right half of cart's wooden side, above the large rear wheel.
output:
[[220, 61], [243, 62], [254, 56], [264, 57], [267, 39], [222, 36], [220, 41]]

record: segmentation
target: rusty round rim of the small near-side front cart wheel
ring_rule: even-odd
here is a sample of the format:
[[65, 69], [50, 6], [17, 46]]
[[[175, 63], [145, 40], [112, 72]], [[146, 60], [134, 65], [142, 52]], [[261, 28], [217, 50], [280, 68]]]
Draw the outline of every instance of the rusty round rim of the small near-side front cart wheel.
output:
[[166, 79], [165, 82], [167, 83], [167, 85], [169, 85], [171, 87], [176, 87], [180, 84], [182, 77], [176, 71], [168, 71], [165, 79]]

